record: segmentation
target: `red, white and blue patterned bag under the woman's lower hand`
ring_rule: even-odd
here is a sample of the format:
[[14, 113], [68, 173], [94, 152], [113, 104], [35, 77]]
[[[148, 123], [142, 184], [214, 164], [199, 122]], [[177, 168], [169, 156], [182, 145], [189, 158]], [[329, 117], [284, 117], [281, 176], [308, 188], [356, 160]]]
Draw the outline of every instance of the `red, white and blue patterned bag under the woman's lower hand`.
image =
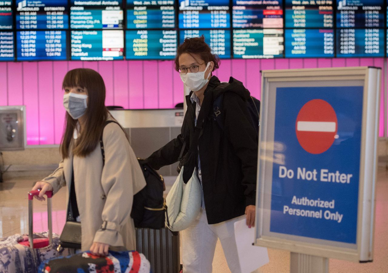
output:
[[137, 251], [109, 251], [100, 257], [81, 252], [67, 257], [58, 257], [42, 263], [39, 273], [149, 273], [149, 261]]

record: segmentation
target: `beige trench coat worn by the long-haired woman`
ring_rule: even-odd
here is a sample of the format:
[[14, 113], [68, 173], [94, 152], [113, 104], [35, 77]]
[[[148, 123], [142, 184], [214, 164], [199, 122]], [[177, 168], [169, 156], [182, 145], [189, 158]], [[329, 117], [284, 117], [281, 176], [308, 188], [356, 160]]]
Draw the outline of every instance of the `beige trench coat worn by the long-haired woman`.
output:
[[[74, 166], [75, 192], [81, 218], [82, 251], [89, 250], [93, 242], [135, 250], [135, 226], [130, 213], [133, 195], [145, 187], [143, 172], [118, 124], [106, 125], [102, 141], [105, 150], [104, 166], [98, 144], [87, 157], [73, 157], [70, 154], [59, 163], [54, 173], [42, 181], [52, 185], [54, 194], [67, 185], [68, 204]], [[102, 229], [104, 221], [105, 230]]]

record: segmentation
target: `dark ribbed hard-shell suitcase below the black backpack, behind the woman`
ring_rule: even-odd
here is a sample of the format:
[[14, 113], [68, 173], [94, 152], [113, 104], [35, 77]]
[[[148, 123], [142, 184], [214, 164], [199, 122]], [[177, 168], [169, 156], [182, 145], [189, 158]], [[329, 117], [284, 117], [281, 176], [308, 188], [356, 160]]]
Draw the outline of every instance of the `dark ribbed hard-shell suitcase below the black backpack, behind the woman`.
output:
[[168, 228], [136, 228], [136, 250], [143, 253], [153, 273], [178, 273], [180, 268], [179, 232]]

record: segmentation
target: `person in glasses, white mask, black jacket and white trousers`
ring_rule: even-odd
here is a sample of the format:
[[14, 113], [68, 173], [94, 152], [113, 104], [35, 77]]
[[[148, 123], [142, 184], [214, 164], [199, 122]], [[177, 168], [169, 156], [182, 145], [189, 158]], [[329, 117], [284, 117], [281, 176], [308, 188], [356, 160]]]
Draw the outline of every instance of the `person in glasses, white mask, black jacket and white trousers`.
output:
[[[239, 81], [225, 88], [217, 88], [220, 81], [212, 76], [219, 59], [211, 54], [204, 37], [186, 38], [177, 50], [175, 70], [185, 86], [191, 90], [186, 96], [187, 112], [181, 134], [161, 149], [144, 159], [153, 168], [178, 161], [184, 168], [184, 180], [191, 177], [194, 167], [203, 189], [201, 211], [189, 228], [182, 232], [183, 272], [212, 271], [212, 261], [219, 238], [232, 272], [239, 272], [234, 223], [246, 218], [252, 227], [255, 220], [255, 190], [257, 169], [257, 132], [248, 121], [245, 100], [249, 91]], [[192, 144], [201, 106], [208, 99], [223, 94], [223, 129], [214, 119], [213, 103], [206, 113], [200, 137], [198, 154], [194, 160], [186, 153]], [[196, 149], [194, 149], [196, 150]]]

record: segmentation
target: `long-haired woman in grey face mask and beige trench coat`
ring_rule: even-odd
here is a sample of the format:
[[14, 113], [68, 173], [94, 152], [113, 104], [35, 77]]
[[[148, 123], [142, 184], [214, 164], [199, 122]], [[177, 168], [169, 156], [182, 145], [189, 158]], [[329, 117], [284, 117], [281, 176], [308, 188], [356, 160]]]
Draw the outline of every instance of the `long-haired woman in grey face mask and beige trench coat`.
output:
[[110, 246], [133, 250], [133, 195], [145, 186], [145, 180], [122, 128], [106, 124], [114, 119], [104, 105], [104, 81], [96, 71], [79, 68], [66, 74], [62, 88], [66, 109], [62, 161], [54, 173], [36, 182], [33, 190], [41, 189], [36, 198], [44, 200], [47, 190], [55, 194], [66, 185], [68, 214], [81, 222], [82, 251], [107, 255]]

